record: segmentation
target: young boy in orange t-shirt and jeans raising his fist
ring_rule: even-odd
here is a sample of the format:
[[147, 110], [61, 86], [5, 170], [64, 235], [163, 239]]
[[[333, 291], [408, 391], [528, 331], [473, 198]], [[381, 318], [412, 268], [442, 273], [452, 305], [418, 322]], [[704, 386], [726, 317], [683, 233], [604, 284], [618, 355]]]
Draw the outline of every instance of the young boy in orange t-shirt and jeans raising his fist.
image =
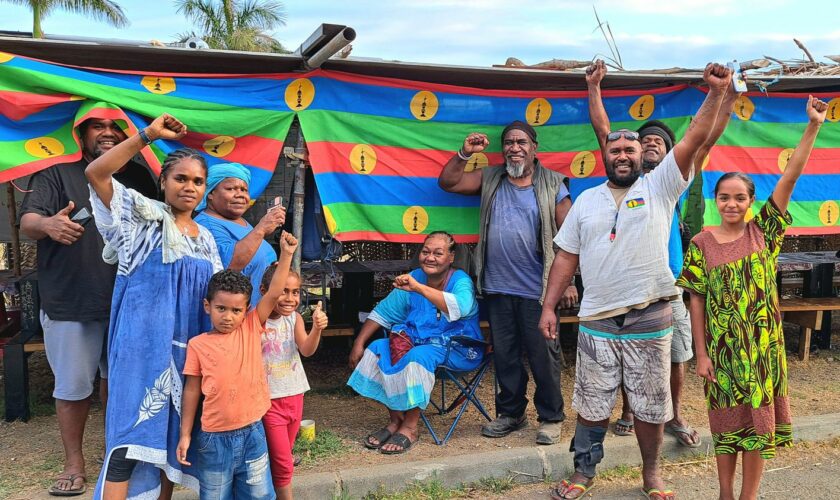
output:
[[221, 271], [207, 286], [204, 308], [213, 330], [187, 345], [178, 461], [187, 462], [198, 400], [204, 394], [198, 437], [201, 498], [275, 498], [262, 417], [271, 405], [260, 334], [277, 304], [297, 248], [285, 231], [274, 278], [248, 311], [251, 282], [239, 272]]

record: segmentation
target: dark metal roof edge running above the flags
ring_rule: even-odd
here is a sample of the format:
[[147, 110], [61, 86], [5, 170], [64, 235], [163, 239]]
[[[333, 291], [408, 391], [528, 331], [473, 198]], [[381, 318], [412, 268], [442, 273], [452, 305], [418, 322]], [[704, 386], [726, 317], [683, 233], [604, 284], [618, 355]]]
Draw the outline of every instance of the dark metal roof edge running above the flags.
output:
[[[0, 50], [74, 66], [115, 70], [165, 73], [287, 73], [300, 71], [303, 59], [296, 55], [194, 50], [137, 45], [108, 41], [44, 40], [9, 36], [0, 32]], [[127, 42], [131, 43], [131, 42]], [[442, 64], [384, 61], [370, 58], [330, 59], [324, 69], [359, 75], [381, 76], [430, 83], [517, 90], [585, 90], [582, 71], [556, 71], [521, 68], [455, 66]], [[759, 78], [769, 82], [774, 76]], [[753, 78], [754, 80], [756, 78]], [[604, 79], [605, 89], [667, 87], [699, 83], [702, 74], [656, 74], [611, 71]], [[773, 92], [838, 92], [837, 76], [783, 76], [770, 89]]]

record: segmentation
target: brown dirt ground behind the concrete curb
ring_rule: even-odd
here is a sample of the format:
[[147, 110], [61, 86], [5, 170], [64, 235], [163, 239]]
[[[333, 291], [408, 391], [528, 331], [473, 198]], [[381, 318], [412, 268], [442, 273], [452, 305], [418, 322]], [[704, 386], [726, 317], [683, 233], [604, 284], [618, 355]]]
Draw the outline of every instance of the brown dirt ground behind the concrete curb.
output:
[[[572, 383], [574, 380], [574, 337], [563, 338], [565, 357], [570, 364], [563, 370], [562, 386], [566, 398], [567, 420], [564, 424], [564, 445], [573, 429], [575, 412], [571, 408]], [[795, 345], [795, 339], [791, 342]], [[834, 345], [840, 345], [840, 335], [835, 333]], [[536, 413], [533, 405], [528, 406], [529, 427], [501, 439], [487, 439], [480, 435], [483, 417], [474, 408], [464, 414], [458, 429], [446, 446], [436, 446], [425, 429], [421, 431], [420, 442], [409, 453], [385, 456], [367, 450], [361, 445], [364, 436], [387, 422], [387, 413], [378, 403], [355, 396], [346, 385], [350, 375], [347, 366], [349, 348], [346, 341], [328, 339], [320, 351], [304, 361], [312, 390], [307, 393], [304, 404], [304, 418], [316, 422], [317, 429], [329, 429], [342, 438], [347, 451], [328, 457], [311, 466], [302, 467], [297, 474], [334, 470], [339, 467], [364, 467], [380, 463], [400, 463], [434, 459], [445, 455], [488, 452], [498, 448], [531, 446], [536, 432]], [[794, 416], [816, 415], [840, 412], [840, 350], [812, 354], [806, 366], [790, 354], [788, 357], [791, 388], [791, 406]], [[43, 353], [30, 358], [33, 400], [36, 413], [40, 416], [29, 422], [0, 422], [0, 498], [29, 498], [35, 491], [43, 491], [61, 471], [63, 452], [55, 416], [50, 413], [52, 375]], [[436, 388], [433, 397], [438, 397]], [[493, 375], [488, 372], [479, 388], [479, 398], [493, 415]], [[533, 384], [529, 384], [529, 399]], [[683, 396], [683, 413], [688, 421], [699, 427], [707, 427], [708, 420], [700, 379], [689, 366]], [[614, 418], [618, 408], [614, 412]], [[451, 417], [433, 416], [432, 425], [437, 430], [448, 427]], [[94, 404], [85, 436], [85, 453], [89, 484], [93, 484], [99, 472], [97, 457], [104, 443], [102, 413]], [[666, 439], [673, 439], [666, 437]]]

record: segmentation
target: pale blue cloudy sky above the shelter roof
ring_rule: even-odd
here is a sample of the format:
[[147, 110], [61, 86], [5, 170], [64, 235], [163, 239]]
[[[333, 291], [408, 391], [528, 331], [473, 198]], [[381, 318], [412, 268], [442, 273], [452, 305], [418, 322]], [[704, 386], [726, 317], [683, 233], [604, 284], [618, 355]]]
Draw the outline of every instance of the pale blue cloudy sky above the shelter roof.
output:
[[[131, 26], [116, 29], [52, 13], [47, 34], [172, 41], [192, 26], [167, 0], [119, 2]], [[307, 0], [287, 1], [287, 25], [274, 35], [294, 49], [322, 22], [357, 32], [353, 56], [489, 66], [517, 57], [610, 56], [593, 13], [609, 23], [627, 69], [702, 67], [707, 61], [840, 53], [836, 0]], [[0, 4], [0, 29], [30, 31], [27, 9]], [[823, 59], [823, 61], [825, 61]]]

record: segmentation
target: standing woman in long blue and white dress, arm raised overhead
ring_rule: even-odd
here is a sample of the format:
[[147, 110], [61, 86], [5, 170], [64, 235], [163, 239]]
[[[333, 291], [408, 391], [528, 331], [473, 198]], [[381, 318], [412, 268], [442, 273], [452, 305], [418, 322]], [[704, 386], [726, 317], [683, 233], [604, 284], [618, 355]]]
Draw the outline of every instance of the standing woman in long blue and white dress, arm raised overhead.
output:
[[[163, 162], [164, 202], [113, 179], [156, 139], [187, 132], [169, 115], [88, 165], [103, 258], [117, 264], [108, 332], [109, 384], [105, 463], [94, 498], [170, 498], [173, 483], [198, 490], [190, 467], [175, 458], [181, 425], [181, 374], [190, 338], [210, 328], [203, 298], [222, 269], [210, 232], [192, 219], [204, 195], [207, 165], [179, 149]], [[193, 462], [195, 463], [195, 462]]]

